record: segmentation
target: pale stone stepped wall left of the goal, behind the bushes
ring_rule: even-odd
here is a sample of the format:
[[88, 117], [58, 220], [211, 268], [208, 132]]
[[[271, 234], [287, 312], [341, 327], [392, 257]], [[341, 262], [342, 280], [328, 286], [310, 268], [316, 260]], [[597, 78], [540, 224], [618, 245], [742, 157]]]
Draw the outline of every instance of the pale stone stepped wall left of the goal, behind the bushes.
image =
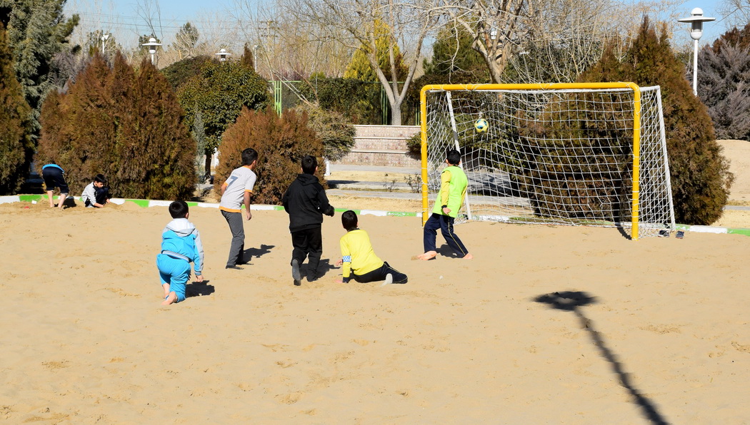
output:
[[418, 155], [409, 153], [406, 139], [419, 132], [419, 126], [355, 126], [354, 148], [334, 165], [377, 165], [419, 168]]

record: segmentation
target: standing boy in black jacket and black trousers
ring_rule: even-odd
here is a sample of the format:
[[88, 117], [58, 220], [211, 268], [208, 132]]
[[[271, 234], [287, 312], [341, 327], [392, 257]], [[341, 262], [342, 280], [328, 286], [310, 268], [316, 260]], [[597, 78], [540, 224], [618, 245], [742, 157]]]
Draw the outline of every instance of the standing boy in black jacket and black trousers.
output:
[[308, 281], [317, 278], [318, 263], [323, 254], [323, 236], [320, 225], [323, 224], [323, 214], [333, 217], [334, 209], [329, 204], [326, 190], [320, 186], [318, 178], [314, 176], [318, 170], [318, 162], [314, 156], [306, 155], [302, 158], [302, 174], [284, 193], [281, 203], [289, 214], [289, 230], [292, 232], [292, 278], [299, 287], [302, 275], [299, 266], [308, 257]]

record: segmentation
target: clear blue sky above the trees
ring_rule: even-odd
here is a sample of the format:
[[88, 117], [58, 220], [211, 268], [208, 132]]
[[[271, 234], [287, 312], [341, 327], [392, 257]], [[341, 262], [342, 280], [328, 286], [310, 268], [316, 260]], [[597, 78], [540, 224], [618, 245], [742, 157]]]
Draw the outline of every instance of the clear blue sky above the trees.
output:
[[[154, 4], [154, 2], [159, 4], [163, 37], [168, 42], [172, 34], [185, 22], [190, 21], [200, 31], [204, 26], [208, 28], [214, 25], [212, 22], [222, 17], [233, 20], [231, 11], [235, 9], [238, 2], [245, 2], [255, 7], [260, 0], [215, 0], [212, 2], [205, 0], [68, 0], [66, 11], [67, 13], [80, 13], [82, 26], [110, 28], [118, 39], [133, 38], [133, 43], [136, 43], [137, 35], [147, 32], [147, 27], [143, 25], [143, 19], [139, 16], [139, 10], [142, 10], [139, 4]], [[723, 16], [718, 13], [718, 2], [718, 0], [685, 0], [676, 8], [680, 18], [690, 16], [694, 7], [700, 7], [703, 9], [704, 16], [717, 19], [716, 22], [704, 24], [703, 38], [700, 43], [709, 43], [727, 30], [725, 22], [721, 21]], [[685, 43], [690, 40], [688, 28], [689, 24], [686, 23], [676, 26], [675, 42]], [[121, 41], [127, 44], [126, 40]]]

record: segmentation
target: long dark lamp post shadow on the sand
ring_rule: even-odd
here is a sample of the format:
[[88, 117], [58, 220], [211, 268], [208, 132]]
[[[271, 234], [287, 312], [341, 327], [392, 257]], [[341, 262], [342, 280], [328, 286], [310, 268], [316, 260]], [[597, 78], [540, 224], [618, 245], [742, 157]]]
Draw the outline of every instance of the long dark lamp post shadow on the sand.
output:
[[595, 297], [589, 296], [589, 294], [585, 292], [565, 291], [540, 295], [537, 296], [534, 301], [550, 305], [551, 308], [556, 308], [557, 310], [571, 311], [575, 314], [581, 327], [589, 332], [589, 337], [591, 337], [596, 348], [599, 349], [601, 356], [609, 361], [610, 367], [612, 367], [613, 372], [619, 378], [620, 385], [628, 390], [628, 393], [631, 394], [634, 402], [640, 406], [643, 416], [651, 421], [652, 424], [668, 424], [658, 413], [653, 402], [643, 396], [643, 394], [640, 394], [640, 391], [635, 388], [630, 378], [630, 374], [625, 372], [622, 363], [617, 359], [617, 356], [607, 347], [607, 344], [604, 342], [604, 336], [594, 328], [593, 321], [581, 313], [580, 310], [583, 306], [592, 305], [596, 302]]

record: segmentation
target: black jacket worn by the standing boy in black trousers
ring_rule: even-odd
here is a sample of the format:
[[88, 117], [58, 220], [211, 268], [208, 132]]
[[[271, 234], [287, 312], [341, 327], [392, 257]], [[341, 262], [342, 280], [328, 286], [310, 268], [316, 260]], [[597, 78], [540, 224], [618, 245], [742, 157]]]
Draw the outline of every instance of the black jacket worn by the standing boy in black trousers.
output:
[[326, 190], [312, 174], [298, 174], [281, 198], [284, 210], [289, 214], [289, 230], [298, 232], [323, 224], [323, 214], [333, 217]]

